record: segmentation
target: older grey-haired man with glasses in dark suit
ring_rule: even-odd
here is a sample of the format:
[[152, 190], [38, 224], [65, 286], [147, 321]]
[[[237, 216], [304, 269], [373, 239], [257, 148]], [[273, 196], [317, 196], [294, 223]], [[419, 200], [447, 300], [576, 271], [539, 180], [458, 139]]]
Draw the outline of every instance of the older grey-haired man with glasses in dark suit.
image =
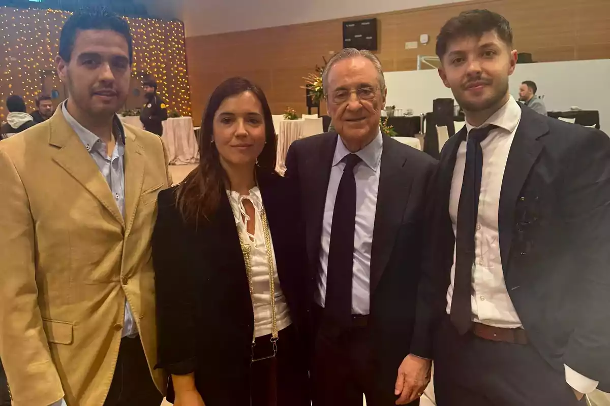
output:
[[314, 406], [359, 406], [363, 393], [370, 406], [418, 404], [429, 361], [408, 354], [436, 161], [382, 135], [375, 55], [344, 49], [323, 82], [337, 132], [295, 142], [286, 159], [307, 224]]

